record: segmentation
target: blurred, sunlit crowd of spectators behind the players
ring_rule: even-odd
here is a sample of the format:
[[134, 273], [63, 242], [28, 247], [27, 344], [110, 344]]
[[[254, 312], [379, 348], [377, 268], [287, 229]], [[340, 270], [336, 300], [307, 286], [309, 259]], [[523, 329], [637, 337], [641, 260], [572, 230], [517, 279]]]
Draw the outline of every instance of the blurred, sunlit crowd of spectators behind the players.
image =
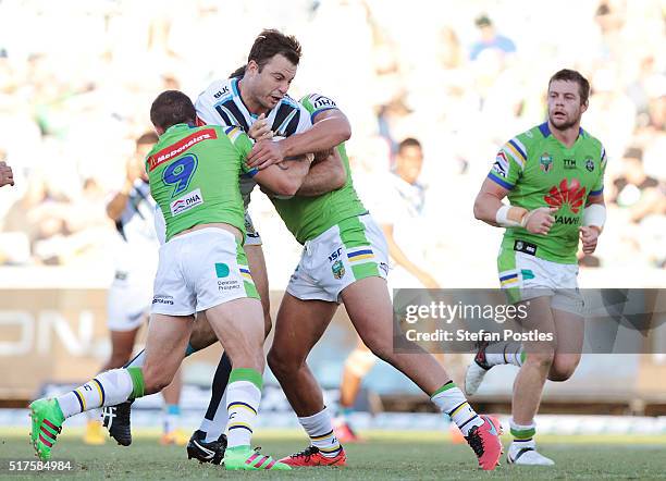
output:
[[[395, 146], [423, 145], [422, 234], [442, 285], [465, 269], [494, 275], [498, 230], [473, 220], [495, 152], [544, 121], [548, 77], [592, 84], [583, 128], [608, 153], [609, 215], [600, 268], [666, 267], [666, 8], [659, 0], [0, 0], [0, 264], [96, 264], [114, 227], [110, 193], [165, 88], [190, 97], [244, 63], [264, 27], [296, 35], [304, 58], [291, 94], [333, 98], [353, 125], [361, 196]], [[25, 26], [29, 25], [29, 28]], [[271, 282], [284, 287], [298, 246], [270, 202], [251, 211]], [[272, 271], [272, 272], [271, 272]]]

